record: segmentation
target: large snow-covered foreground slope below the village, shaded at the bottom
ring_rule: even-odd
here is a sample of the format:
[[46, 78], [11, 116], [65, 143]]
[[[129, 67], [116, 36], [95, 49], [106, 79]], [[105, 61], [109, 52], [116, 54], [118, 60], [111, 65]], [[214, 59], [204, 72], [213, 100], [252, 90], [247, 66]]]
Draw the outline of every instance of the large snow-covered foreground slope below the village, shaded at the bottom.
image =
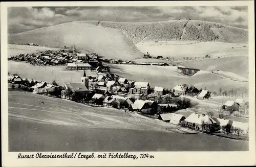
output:
[[11, 152], [248, 150], [248, 141], [170, 132], [177, 126], [28, 92], [9, 91], [8, 110]]

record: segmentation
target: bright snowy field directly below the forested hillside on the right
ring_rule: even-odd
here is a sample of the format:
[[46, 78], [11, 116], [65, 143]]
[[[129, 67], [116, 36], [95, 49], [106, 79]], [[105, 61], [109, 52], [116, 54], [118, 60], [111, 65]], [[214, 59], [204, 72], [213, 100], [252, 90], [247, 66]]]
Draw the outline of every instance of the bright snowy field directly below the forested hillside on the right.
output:
[[[248, 56], [248, 44], [222, 43], [222, 42], [195, 42], [195, 41], [153, 41], [140, 42], [136, 46], [143, 53], [152, 56], [174, 57], [183, 60], [183, 57], [211, 57], [218, 56]], [[243, 47], [246, 46], [246, 47]], [[232, 49], [234, 47], [234, 49]]]

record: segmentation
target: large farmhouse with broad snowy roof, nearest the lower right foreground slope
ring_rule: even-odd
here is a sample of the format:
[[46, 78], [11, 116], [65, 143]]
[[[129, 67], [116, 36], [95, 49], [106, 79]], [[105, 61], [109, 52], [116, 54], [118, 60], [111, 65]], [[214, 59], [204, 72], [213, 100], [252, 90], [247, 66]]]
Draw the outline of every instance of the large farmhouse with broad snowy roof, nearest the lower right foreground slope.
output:
[[216, 121], [205, 114], [191, 113], [185, 120], [184, 123], [191, 129], [201, 131], [214, 131]]

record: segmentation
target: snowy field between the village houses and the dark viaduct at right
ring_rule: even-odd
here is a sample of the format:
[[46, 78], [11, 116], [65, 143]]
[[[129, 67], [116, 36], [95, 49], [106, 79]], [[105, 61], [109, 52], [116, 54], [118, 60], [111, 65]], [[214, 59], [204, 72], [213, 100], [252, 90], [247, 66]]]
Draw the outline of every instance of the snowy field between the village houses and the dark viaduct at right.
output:
[[136, 81], [150, 82], [152, 87], [162, 86], [173, 88], [178, 84], [194, 85], [197, 88], [207, 88], [209, 91], [217, 91], [223, 85], [226, 89], [233, 88], [241, 92], [248, 92], [248, 83], [232, 81], [222, 76], [212, 74], [209, 71], [200, 71], [192, 77], [181, 75], [175, 71], [175, 66], [153, 66], [153, 65], [114, 65], [111, 71], [124, 78]]

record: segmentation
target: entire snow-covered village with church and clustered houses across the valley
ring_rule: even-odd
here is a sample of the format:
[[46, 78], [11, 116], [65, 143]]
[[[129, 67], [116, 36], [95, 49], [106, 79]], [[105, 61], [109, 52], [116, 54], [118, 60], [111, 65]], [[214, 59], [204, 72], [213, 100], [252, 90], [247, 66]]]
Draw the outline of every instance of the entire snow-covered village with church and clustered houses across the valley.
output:
[[[147, 56], [148, 53], [145, 55]], [[151, 87], [148, 82], [122, 78], [111, 73], [110, 67], [102, 64], [106, 60], [99, 59], [97, 54], [77, 53], [75, 47], [72, 51], [45, 51], [10, 58], [10, 60], [15, 59], [35, 65], [66, 65], [68, 71], [83, 70], [84, 72], [80, 82], [65, 83], [65, 86], [59, 86], [55, 80], [52, 83], [46, 83], [21, 78], [18, 74], [8, 74], [9, 90], [25, 90], [94, 107], [113, 107], [120, 109], [121, 112], [138, 112], [166, 123], [228, 138], [241, 139], [239, 136], [248, 136], [248, 123], [231, 121], [224, 116], [248, 114], [248, 102], [241, 98], [226, 101], [217, 115], [212, 111], [206, 113], [195, 111], [190, 115], [183, 115], [177, 111], [193, 107], [191, 98], [207, 101], [211, 99], [212, 93], [207, 89], [189, 87], [187, 84], [180, 84], [173, 88]], [[109, 63], [116, 63], [113, 61], [109, 60]], [[198, 69], [178, 68], [188, 76], [198, 71]], [[86, 70], [93, 70], [96, 75], [87, 75]]]

